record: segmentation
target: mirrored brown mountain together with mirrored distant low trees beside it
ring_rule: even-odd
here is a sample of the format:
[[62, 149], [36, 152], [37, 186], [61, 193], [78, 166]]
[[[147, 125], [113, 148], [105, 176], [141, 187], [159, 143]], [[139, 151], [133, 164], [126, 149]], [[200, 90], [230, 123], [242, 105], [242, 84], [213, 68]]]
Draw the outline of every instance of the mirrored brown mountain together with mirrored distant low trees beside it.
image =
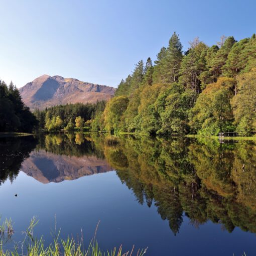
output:
[[111, 171], [103, 152], [84, 134], [38, 135], [39, 144], [21, 170], [42, 183]]

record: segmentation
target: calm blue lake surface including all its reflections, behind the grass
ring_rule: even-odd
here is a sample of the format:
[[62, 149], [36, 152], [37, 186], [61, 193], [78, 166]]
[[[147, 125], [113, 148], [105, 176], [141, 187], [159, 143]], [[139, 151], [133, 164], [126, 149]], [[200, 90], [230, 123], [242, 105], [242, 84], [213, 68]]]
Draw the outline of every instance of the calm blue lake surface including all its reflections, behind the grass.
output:
[[[94, 235], [146, 255], [255, 255], [256, 144], [96, 134], [0, 139], [0, 213], [16, 241]], [[17, 197], [15, 195], [18, 195]], [[12, 247], [8, 242], [6, 247]]]

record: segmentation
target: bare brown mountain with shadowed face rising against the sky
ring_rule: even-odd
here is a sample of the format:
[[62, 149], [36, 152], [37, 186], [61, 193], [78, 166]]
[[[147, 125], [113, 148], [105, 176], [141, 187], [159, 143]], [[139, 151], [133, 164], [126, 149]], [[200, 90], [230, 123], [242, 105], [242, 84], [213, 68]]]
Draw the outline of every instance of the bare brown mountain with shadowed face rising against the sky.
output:
[[19, 89], [24, 103], [31, 109], [66, 103], [94, 103], [108, 100], [115, 88], [86, 83], [74, 78], [42, 75]]

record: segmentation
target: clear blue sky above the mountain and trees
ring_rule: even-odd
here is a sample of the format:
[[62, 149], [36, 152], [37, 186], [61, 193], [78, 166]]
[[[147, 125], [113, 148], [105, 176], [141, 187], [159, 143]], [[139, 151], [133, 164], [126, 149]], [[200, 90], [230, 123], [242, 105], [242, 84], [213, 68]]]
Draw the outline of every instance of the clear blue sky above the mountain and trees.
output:
[[0, 79], [21, 87], [42, 74], [116, 87], [140, 60], [195, 37], [256, 33], [256, 3], [238, 0], [0, 0]]

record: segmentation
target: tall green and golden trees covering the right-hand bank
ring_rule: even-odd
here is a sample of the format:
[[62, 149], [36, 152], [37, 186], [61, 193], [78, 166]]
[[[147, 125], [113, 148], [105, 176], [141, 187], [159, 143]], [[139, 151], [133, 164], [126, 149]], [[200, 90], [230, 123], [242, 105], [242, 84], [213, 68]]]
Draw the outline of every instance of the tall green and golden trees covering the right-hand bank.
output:
[[98, 111], [94, 129], [111, 133], [207, 134], [256, 132], [256, 38], [196, 38], [183, 52], [174, 33], [155, 65], [141, 60]]

